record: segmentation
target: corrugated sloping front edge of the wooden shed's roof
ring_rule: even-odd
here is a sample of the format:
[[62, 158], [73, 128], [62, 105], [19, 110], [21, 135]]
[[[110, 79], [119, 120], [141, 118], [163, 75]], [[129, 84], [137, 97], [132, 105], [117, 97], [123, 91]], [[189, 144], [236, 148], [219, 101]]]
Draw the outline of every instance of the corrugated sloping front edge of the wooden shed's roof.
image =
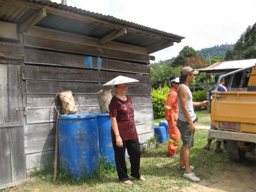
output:
[[63, 5], [60, 3], [55, 3], [55, 2], [52, 2], [49, 0], [26, 0], [26, 1], [29, 1], [32, 3], [38, 3], [38, 4], [42, 4], [42, 5], [46, 5], [46, 6], [51, 6], [53, 8], [58, 8], [60, 10], [77, 13], [79, 15], [93, 17], [95, 19], [111, 22], [113, 24], [122, 25], [124, 27], [127, 26], [127, 27], [131, 27], [131, 28], [139, 29], [139, 30], [145, 31], [147, 33], [150, 32], [150, 33], [154, 33], [156, 35], [166, 36], [166, 38], [177, 38], [177, 42], [180, 42], [182, 39], [185, 38], [184, 36], [175, 35], [173, 33], [167, 33], [165, 31], [161, 31], [159, 29], [149, 28], [147, 26], [143, 26], [141, 24], [136, 24], [134, 22], [129, 22], [127, 20], [117, 19], [116, 17], [113, 17], [111, 15], [103, 15], [102, 13], [90, 12], [90, 11], [82, 10], [80, 8], [76, 8], [73, 6], [67, 6], [67, 5]]

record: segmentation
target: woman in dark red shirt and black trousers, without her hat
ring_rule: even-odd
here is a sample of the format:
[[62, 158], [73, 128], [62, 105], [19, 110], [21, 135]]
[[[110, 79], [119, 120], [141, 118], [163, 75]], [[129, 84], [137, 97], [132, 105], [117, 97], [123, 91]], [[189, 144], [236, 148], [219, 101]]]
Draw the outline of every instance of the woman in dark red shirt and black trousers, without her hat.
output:
[[130, 156], [131, 176], [138, 180], [145, 179], [140, 175], [140, 143], [134, 122], [132, 100], [125, 96], [127, 90], [127, 84], [115, 86], [116, 94], [109, 104], [109, 116], [118, 179], [124, 184], [133, 184], [127, 175], [125, 148]]

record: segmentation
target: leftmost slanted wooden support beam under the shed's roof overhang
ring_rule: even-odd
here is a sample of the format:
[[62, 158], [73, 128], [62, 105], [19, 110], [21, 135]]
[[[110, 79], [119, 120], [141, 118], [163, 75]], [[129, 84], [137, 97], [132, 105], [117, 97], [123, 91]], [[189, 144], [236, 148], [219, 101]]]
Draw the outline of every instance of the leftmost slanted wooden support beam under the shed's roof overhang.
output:
[[35, 24], [40, 22], [40, 20], [44, 19], [46, 16], [47, 16], [46, 9], [41, 8], [38, 12], [31, 15], [31, 17], [29, 17], [27, 20], [25, 20], [25, 22], [23, 22], [22, 24], [20, 24], [20, 26], [18, 26], [18, 32], [23, 33], [29, 27], [35, 26]]

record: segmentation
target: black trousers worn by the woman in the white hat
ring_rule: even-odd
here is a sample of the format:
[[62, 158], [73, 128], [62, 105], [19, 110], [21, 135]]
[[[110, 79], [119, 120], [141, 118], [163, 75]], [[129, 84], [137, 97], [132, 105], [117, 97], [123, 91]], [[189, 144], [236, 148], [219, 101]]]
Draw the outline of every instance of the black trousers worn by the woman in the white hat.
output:
[[123, 147], [117, 147], [116, 141], [113, 141], [113, 148], [115, 151], [115, 163], [118, 179], [124, 182], [129, 180], [127, 175], [127, 167], [125, 162], [125, 148], [130, 156], [131, 163], [131, 176], [137, 179], [140, 178], [140, 143], [139, 140], [127, 140], [123, 141]]

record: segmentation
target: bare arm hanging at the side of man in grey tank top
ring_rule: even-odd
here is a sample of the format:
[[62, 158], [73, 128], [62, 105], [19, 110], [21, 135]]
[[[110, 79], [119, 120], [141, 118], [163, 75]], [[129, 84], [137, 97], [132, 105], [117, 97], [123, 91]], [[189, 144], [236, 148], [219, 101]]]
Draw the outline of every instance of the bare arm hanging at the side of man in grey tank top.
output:
[[195, 132], [195, 125], [188, 111], [188, 89], [185, 86], [180, 86], [178, 97], [180, 99], [180, 104], [181, 104], [181, 108], [184, 113], [184, 116], [186, 117], [186, 120], [189, 124], [189, 131]]

